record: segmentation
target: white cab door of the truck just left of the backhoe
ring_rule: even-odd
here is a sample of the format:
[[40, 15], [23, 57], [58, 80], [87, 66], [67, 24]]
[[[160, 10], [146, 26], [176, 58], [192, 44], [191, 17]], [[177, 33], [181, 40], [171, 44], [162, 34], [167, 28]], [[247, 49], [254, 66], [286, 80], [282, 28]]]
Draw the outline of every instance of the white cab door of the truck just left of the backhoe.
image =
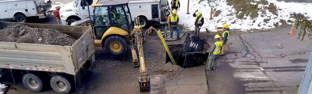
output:
[[[84, 18], [87, 18], [89, 16], [89, 12], [88, 12], [88, 7], [90, 9], [90, 15], [92, 16], [93, 15], [93, 10], [94, 8], [92, 8], [92, 3], [93, 3], [93, 0], [84, 0], [85, 3], [82, 3], [82, 0], [80, 1], [80, 15], [83, 16]], [[87, 2], [89, 3], [89, 6], [87, 6]], [[85, 9], [82, 9], [82, 5], [85, 6]]]

